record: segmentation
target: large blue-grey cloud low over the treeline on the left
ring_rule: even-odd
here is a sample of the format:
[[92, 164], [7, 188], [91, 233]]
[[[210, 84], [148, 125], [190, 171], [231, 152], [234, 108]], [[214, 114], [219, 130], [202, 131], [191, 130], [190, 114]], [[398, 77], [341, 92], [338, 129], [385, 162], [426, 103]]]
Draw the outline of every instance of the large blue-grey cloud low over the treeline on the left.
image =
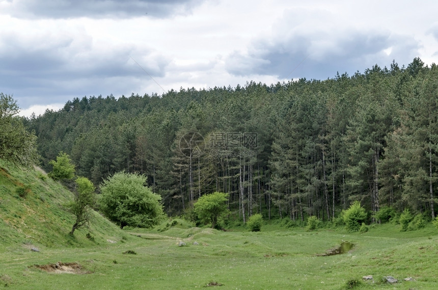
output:
[[2, 92], [14, 95], [21, 108], [32, 103], [63, 103], [90, 94], [130, 94], [153, 83], [149, 75], [164, 76], [170, 63], [166, 57], [144, 47], [77, 51], [70, 48], [68, 41], [62, 49], [57, 43], [33, 50], [30, 46], [31, 43], [9, 37], [8, 47], [0, 50], [0, 87]]

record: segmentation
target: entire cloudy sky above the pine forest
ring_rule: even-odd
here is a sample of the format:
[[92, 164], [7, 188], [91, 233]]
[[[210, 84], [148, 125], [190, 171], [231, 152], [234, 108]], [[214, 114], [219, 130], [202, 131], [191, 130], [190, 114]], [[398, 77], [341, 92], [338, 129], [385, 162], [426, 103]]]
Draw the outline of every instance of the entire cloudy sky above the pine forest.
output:
[[438, 2], [0, 0], [0, 92], [74, 97], [326, 79], [438, 63]]

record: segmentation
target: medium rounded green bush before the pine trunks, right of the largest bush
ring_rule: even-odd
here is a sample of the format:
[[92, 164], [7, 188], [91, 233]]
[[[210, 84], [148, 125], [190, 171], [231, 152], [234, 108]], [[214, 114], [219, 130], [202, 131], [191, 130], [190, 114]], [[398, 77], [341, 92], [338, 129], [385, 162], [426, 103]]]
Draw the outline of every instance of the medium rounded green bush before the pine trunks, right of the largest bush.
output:
[[201, 196], [193, 205], [198, 218], [215, 228], [218, 219], [228, 213], [228, 194], [214, 192]]

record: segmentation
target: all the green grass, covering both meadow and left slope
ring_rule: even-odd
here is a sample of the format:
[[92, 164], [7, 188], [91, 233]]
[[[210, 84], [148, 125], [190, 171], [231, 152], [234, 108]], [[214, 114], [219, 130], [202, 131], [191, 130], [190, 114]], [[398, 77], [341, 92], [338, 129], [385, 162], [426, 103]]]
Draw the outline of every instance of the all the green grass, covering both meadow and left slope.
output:
[[[216, 282], [221, 290], [338, 290], [349, 285], [419, 290], [436, 289], [438, 283], [438, 230], [430, 223], [408, 232], [376, 225], [363, 234], [340, 228], [309, 232], [279, 223], [265, 224], [260, 232], [225, 232], [173, 219], [152, 230], [121, 231], [96, 214], [90, 230], [75, 232], [73, 239], [68, 236], [72, 217], [60, 206], [69, 193], [37, 173], [8, 172], [9, 177], [0, 174], [0, 287], [200, 289]], [[14, 197], [18, 182], [30, 184], [25, 198]], [[95, 241], [86, 238], [89, 232]], [[179, 247], [180, 241], [187, 246]], [[355, 246], [343, 255], [318, 256], [342, 241]], [[31, 251], [31, 245], [40, 252]], [[32, 267], [58, 261], [77, 262], [90, 273], [54, 274]], [[373, 275], [374, 283], [363, 281], [365, 275]], [[400, 282], [381, 282], [384, 276]], [[416, 281], [403, 281], [406, 277]]]

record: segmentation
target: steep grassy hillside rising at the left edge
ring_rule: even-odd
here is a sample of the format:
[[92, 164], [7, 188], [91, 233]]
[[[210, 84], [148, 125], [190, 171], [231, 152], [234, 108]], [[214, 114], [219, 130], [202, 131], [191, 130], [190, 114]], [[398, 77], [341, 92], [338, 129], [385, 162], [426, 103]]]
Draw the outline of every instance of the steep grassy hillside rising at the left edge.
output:
[[[94, 213], [90, 228], [68, 233], [73, 215], [63, 204], [73, 194], [41, 170], [21, 170], [0, 163], [0, 251], [24, 247], [92, 246], [119, 241], [123, 232]], [[89, 239], [87, 234], [90, 233]]]

